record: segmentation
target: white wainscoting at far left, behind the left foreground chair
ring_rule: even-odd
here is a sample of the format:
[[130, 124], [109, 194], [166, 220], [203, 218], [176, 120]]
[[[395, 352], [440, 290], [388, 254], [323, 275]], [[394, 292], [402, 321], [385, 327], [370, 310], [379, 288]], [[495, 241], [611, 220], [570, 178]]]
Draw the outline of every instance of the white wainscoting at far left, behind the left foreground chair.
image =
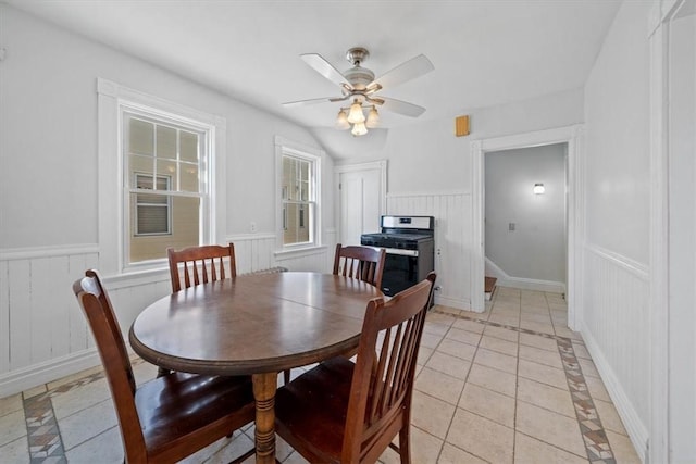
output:
[[0, 398], [84, 365], [94, 342], [72, 285], [98, 263], [92, 244], [0, 251]]

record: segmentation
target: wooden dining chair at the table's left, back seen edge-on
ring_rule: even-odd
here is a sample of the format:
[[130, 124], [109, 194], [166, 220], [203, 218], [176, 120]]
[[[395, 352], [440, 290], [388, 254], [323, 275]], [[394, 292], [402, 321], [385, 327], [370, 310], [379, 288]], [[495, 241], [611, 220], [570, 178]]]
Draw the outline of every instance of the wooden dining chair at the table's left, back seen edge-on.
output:
[[136, 386], [123, 335], [98, 272], [87, 271], [73, 290], [91, 327], [111, 389], [125, 463], [179, 461], [254, 419], [249, 377], [172, 373]]

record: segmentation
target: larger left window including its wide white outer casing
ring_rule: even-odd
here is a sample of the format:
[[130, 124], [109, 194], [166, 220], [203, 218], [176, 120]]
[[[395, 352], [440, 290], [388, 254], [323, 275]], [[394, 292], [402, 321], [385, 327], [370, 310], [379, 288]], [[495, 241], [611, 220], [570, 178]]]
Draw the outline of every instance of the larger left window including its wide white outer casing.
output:
[[97, 93], [100, 271], [160, 276], [167, 247], [224, 238], [227, 123], [103, 78]]

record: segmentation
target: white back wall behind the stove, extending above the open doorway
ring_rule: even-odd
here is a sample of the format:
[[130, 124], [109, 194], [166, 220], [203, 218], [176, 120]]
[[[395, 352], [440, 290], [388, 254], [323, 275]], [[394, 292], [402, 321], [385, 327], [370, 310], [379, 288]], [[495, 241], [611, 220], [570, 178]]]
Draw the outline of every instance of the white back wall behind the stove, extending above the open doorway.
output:
[[[435, 216], [436, 302], [471, 308], [473, 250], [472, 140], [572, 126], [583, 121], [583, 90], [485, 109], [471, 115], [471, 135], [455, 136], [455, 116], [391, 128], [361, 143], [351, 162], [387, 160], [388, 214]], [[348, 164], [347, 161], [337, 161]], [[483, 292], [483, 288], [480, 290]]]

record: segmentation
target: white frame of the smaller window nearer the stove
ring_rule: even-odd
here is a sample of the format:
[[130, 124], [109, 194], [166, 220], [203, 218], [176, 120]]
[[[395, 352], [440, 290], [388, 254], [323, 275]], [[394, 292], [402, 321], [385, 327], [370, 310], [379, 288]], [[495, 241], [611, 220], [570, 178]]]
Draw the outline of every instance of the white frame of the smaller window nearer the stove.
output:
[[[313, 200], [310, 200], [314, 205], [313, 224], [310, 217], [310, 241], [302, 243], [284, 243], [284, 224], [286, 223], [286, 214], [284, 208], [285, 193], [283, 190], [283, 156], [289, 155], [298, 158], [304, 161], [309, 161], [312, 164], [312, 177], [314, 179], [314, 186], [310, 190], [313, 191]], [[285, 252], [306, 251], [322, 248], [322, 221], [321, 221], [321, 198], [322, 198], [322, 158], [324, 151], [314, 147], [309, 147], [302, 143], [287, 140], [283, 137], [275, 137], [275, 162], [276, 162], [276, 255]], [[311, 214], [310, 214], [311, 216]], [[308, 227], [304, 224], [304, 227]]]

